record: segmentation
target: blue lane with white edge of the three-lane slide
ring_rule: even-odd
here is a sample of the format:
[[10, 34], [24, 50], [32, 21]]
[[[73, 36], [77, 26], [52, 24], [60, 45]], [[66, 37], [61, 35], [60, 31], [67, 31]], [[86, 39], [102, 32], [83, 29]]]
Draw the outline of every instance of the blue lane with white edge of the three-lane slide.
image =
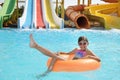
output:
[[18, 19], [19, 28], [33, 28], [34, 1], [26, 0], [23, 15]]

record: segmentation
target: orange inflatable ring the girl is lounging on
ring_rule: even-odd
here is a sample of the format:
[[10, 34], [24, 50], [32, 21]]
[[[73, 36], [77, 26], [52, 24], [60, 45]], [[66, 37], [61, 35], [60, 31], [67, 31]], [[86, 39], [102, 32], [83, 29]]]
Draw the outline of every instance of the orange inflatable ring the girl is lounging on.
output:
[[[62, 55], [63, 57], [68, 57], [68, 60], [57, 60], [54, 64], [54, 72], [66, 71], [66, 72], [82, 72], [89, 70], [96, 70], [100, 67], [100, 62], [94, 59], [76, 59], [71, 60], [71, 55]], [[50, 65], [51, 58], [48, 59], [47, 66]]]

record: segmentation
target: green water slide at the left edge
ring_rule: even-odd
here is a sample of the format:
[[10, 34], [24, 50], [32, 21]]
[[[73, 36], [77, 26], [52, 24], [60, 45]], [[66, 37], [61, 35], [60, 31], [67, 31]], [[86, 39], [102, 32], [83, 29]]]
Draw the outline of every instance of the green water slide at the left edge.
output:
[[5, 0], [2, 9], [0, 10], [0, 28], [3, 27], [3, 22], [10, 19], [14, 12], [17, 0]]

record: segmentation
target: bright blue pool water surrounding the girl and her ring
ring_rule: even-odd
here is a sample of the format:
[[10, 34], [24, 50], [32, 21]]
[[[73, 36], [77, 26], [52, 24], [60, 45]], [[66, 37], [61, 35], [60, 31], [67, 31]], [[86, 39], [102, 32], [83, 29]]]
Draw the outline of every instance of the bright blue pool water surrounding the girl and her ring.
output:
[[51, 72], [41, 80], [119, 80], [120, 30], [0, 30], [0, 80], [37, 80], [47, 67], [48, 57], [29, 47], [29, 34], [47, 49], [69, 52], [78, 47], [79, 36], [89, 40], [88, 48], [101, 59], [98, 70]]

